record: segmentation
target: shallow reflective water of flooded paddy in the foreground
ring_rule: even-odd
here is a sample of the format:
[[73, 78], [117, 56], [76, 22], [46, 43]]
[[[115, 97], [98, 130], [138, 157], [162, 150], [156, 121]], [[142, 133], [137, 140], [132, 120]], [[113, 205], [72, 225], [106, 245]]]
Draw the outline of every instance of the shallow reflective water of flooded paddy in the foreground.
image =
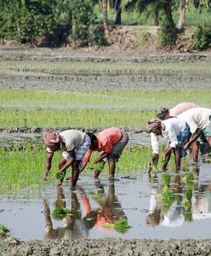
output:
[[[170, 172], [171, 187], [178, 200], [167, 212], [157, 201], [162, 193], [162, 176], [149, 179], [147, 173], [134, 177], [121, 177], [109, 183], [101, 173], [100, 183], [94, 183], [91, 173], [83, 174], [76, 192], [64, 183], [58, 189], [54, 183], [44, 183], [33, 198], [25, 191], [19, 199], [4, 196], [0, 207], [0, 224], [5, 224], [11, 235], [23, 240], [30, 239], [77, 239], [77, 238], [148, 238], [148, 239], [205, 239], [211, 228], [211, 172], [210, 164], [190, 166], [197, 173], [197, 182], [191, 200], [191, 212], [182, 206], [185, 172]], [[71, 216], [56, 220], [52, 216], [55, 201], [71, 210]], [[188, 216], [188, 218], [187, 218]], [[131, 228], [120, 233], [107, 230], [106, 222], [114, 223], [127, 218]]]

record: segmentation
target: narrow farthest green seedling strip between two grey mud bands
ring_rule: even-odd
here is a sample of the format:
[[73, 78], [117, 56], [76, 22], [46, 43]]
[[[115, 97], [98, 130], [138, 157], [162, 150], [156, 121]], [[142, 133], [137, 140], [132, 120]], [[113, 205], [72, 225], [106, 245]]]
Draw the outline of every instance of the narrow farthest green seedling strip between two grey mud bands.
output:
[[17, 72], [39, 72], [53, 74], [94, 74], [94, 73], [140, 73], [147, 70], [157, 71], [157, 73], [202, 73], [210, 71], [206, 62], [201, 62], [200, 67], [195, 62], [182, 61], [178, 63], [152, 63], [152, 62], [94, 62], [94, 61], [1, 61], [0, 70], [11, 70]]

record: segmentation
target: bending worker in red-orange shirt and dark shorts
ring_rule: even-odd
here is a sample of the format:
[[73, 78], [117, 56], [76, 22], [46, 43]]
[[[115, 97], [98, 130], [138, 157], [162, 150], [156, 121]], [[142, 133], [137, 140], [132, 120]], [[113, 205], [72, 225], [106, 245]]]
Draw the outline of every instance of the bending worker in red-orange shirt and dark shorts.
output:
[[99, 174], [105, 165], [105, 159], [107, 158], [109, 164], [109, 177], [110, 179], [113, 179], [115, 175], [116, 162], [123, 153], [123, 149], [128, 144], [128, 134], [118, 128], [111, 127], [100, 131], [95, 135], [93, 133], [88, 133], [88, 135], [92, 139], [92, 144], [83, 159], [83, 168], [87, 165], [93, 150], [103, 151], [103, 153], [100, 154], [100, 157], [97, 160], [94, 160], [94, 164], [101, 164], [101, 168], [96, 168], [94, 170], [94, 178], [99, 177]]

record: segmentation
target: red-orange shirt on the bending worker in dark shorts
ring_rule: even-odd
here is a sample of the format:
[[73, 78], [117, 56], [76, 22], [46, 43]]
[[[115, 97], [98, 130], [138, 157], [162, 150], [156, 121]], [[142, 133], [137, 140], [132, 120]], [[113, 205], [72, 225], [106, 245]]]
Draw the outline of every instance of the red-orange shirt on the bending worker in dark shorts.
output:
[[[119, 128], [111, 127], [107, 128], [99, 133], [95, 134], [98, 141], [98, 148], [96, 151], [104, 151], [106, 154], [110, 154], [112, 148], [122, 137], [122, 132]], [[89, 149], [87, 154], [83, 158], [83, 162], [87, 163], [93, 150]]]

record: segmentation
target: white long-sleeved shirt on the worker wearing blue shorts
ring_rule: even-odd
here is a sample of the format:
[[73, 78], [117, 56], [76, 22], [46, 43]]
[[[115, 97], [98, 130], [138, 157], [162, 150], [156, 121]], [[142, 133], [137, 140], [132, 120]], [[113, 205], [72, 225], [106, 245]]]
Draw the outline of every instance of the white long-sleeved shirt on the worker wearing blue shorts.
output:
[[[181, 131], [185, 130], [185, 122], [178, 118], [169, 118], [161, 122], [165, 127], [163, 130], [163, 136], [167, 137], [170, 142], [170, 147], [176, 148], [178, 144], [178, 135]], [[152, 152], [158, 154], [159, 152], [159, 137], [151, 132], [151, 148]]]

